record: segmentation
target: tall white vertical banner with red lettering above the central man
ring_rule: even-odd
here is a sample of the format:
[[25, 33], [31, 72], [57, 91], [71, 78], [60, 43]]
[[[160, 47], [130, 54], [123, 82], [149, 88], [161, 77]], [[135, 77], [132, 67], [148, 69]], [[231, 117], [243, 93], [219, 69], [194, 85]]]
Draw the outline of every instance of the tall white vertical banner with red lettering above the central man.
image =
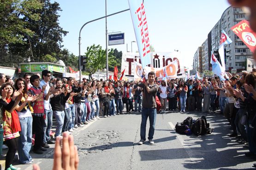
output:
[[142, 67], [151, 63], [149, 29], [143, 0], [128, 0]]

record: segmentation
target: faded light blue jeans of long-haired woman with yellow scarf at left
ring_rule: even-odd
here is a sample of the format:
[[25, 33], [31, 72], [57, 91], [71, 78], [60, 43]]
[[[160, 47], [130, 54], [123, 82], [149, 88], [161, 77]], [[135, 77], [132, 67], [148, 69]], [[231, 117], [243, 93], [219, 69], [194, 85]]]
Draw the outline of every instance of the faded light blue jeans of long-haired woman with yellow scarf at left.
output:
[[19, 118], [21, 131], [18, 138], [18, 156], [19, 162], [25, 164], [32, 160], [30, 156], [30, 149], [32, 146], [32, 116], [26, 118]]

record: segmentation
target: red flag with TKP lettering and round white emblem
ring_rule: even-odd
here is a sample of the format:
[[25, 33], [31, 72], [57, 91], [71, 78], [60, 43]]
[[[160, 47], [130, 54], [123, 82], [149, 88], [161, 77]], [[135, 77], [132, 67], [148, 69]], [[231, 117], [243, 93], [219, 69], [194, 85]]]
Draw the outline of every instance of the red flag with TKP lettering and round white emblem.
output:
[[256, 33], [251, 30], [247, 20], [239, 22], [231, 29], [252, 52], [256, 50]]

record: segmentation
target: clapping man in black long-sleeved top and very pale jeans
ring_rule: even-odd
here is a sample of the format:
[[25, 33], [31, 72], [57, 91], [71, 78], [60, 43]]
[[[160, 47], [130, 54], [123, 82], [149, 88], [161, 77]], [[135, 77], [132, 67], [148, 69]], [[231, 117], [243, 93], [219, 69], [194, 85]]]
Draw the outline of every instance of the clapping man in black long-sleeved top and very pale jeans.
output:
[[59, 89], [59, 91], [57, 91], [56, 93], [54, 93], [53, 95], [51, 95], [51, 106], [52, 106], [52, 110], [54, 113], [54, 117], [57, 121], [57, 127], [56, 127], [56, 133], [55, 133], [55, 138], [57, 136], [61, 135], [61, 130], [63, 127], [63, 123], [64, 123], [64, 117], [65, 117], [65, 103], [68, 100], [70, 93], [72, 91], [72, 89], [67, 91], [67, 95], [65, 95], [64, 93], [64, 87], [62, 87], [62, 81], [61, 79], [56, 79], [56, 89]]

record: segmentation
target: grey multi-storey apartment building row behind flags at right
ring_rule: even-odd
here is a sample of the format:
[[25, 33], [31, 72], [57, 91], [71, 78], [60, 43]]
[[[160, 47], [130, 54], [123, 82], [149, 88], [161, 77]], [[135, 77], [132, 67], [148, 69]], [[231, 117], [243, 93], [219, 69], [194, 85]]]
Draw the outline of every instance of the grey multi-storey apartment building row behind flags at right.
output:
[[[211, 51], [218, 51], [220, 45], [220, 35], [223, 29], [226, 34], [232, 40], [232, 43], [225, 45], [226, 49], [226, 71], [231, 71], [236, 69], [237, 72], [241, 72], [246, 69], [247, 58], [252, 58], [252, 52], [244, 44], [244, 42], [238, 38], [236, 34], [231, 30], [231, 27], [239, 23], [242, 20], [248, 20], [249, 17], [245, 12], [238, 7], [228, 7], [220, 17], [220, 20], [214, 25], [212, 30], [209, 32], [207, 39], [202, 43], [201, 54], [198, 54], [199, 48], [196, 50], [194, 55], [193, 70], [200, 70], [202, 73], [204, 70], [211, 70], [212, 66], [210, 64]], [[198, 57], [202, 56], [202, 72], [198, 64]], [[198, 56], [198, 57], [197, 57]], [[219, 60], [219, 58], [218, 58]], [[222, 63], [221, 63], [222, 64]]]

